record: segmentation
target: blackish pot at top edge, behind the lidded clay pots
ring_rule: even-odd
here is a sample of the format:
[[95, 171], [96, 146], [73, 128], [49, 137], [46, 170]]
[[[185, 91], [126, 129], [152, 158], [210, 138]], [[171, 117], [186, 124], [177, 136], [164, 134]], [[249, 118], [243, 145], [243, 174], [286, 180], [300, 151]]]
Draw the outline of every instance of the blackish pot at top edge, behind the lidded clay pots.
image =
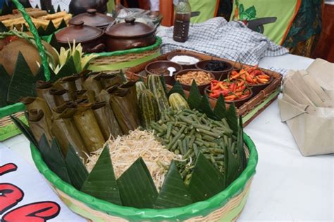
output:
[[79, 15], [85, 13], [87, 9], [94, 8], [99, 13], [106, 13], [108, 0], [72, 0], [70, 1], [70, 13]]

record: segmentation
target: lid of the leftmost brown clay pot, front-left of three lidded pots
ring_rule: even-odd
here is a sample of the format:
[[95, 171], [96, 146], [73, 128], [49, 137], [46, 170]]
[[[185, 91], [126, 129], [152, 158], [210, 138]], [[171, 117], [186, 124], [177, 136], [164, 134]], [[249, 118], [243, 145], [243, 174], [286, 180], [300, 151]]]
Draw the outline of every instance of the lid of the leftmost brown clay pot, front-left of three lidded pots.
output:
[[103, 31], [97, 27], [85, 25], [83, 21], [73, 21], [70, 26], [56, 33], [58, 42], [67, 44], [68, 42], [83, 43], [97, 39], [103, 35]]

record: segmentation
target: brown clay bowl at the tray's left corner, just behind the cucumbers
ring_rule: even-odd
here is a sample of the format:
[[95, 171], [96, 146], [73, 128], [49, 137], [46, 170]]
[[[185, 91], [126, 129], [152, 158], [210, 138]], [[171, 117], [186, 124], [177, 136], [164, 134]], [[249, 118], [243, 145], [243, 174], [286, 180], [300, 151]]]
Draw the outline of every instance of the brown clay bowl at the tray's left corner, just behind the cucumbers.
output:
[[[166, 68], [167, 69], [168, 67], [174, 67], [175, 68], [176, 72], [174, 72], [173, 74], [178, 73], [183, 69], [183, 67], [181, 65], [178, 65], [178, 63], [173, 63], [173, 62], [168, 61], [168, 60], [159, 60], [159, 61], [155, 61], [155, 62], [151, 62], [151, 63], [147, 64], [147, 66], [145, 67], [145, 72], [147, 73], [147, 75], [155, 74], [155, 73], [150, 72], [150, 70], [159, 69], [159, 68]], [[171, 86], [173, 86], [173, 84], [175, 84], [174, 77], [170, 77], [169, 74], [164, 74], [163, 77], [166, 81], [166, 84], [171, 85]]]

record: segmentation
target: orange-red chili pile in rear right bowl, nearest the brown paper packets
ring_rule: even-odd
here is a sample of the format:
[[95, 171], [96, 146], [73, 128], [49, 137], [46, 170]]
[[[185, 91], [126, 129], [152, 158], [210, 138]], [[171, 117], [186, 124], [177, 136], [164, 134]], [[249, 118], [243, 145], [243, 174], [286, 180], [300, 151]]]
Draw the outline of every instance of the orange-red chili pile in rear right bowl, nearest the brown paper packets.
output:
[[230, 81], [246, 81], [247, 85], [266, 84], [270, 81], [270, 76], [264, 73], [256, 65], [254, 67], [244, 67], [239, 72], [233, 70], [230, 74]]

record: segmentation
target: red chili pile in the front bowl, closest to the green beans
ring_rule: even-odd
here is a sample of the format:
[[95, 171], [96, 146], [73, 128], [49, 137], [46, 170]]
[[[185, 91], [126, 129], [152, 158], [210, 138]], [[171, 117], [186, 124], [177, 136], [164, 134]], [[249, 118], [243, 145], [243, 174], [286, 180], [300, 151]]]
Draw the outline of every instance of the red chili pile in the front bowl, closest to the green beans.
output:
[[250, 96], [251, 91], [247, 89], [245, 80], [242, 81], [218, 81], [212, 80], [209, 97], [218, 98], [223, 95], [226, 102], [241, 100]]

